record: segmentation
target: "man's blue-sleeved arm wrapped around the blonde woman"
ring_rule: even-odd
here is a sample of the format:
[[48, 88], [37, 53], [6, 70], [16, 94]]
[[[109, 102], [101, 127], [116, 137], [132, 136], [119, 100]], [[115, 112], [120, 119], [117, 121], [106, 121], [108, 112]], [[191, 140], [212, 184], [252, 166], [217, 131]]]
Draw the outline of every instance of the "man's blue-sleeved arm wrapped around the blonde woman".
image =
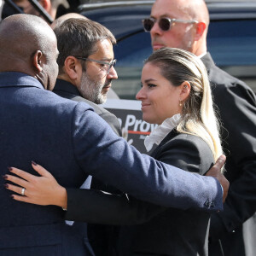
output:
[[[124, 140], [116, 137], [96, 113], [84, 113], [83, 106], [80, 105], [83, 113], [76, 113], [75, 117], [73, 152], [84, 172], [140, 200], [165, 207], [207, 209], [205, 202], [210, 200], [215, 201], [212, 211], [222, 208], [222, 190], [217, 179], [180, 172], [174, 166], [140, 154]], [[99, 123], [97, 127], [96, 122]], [[106, 166], [109, 166], [108, 172]], [[215, 172], [215, 175], [223, 183], [225, 196], [228, 182], [219, 172]], [[21, 183], [20, 186], [28, 190], [27, 183]]]

